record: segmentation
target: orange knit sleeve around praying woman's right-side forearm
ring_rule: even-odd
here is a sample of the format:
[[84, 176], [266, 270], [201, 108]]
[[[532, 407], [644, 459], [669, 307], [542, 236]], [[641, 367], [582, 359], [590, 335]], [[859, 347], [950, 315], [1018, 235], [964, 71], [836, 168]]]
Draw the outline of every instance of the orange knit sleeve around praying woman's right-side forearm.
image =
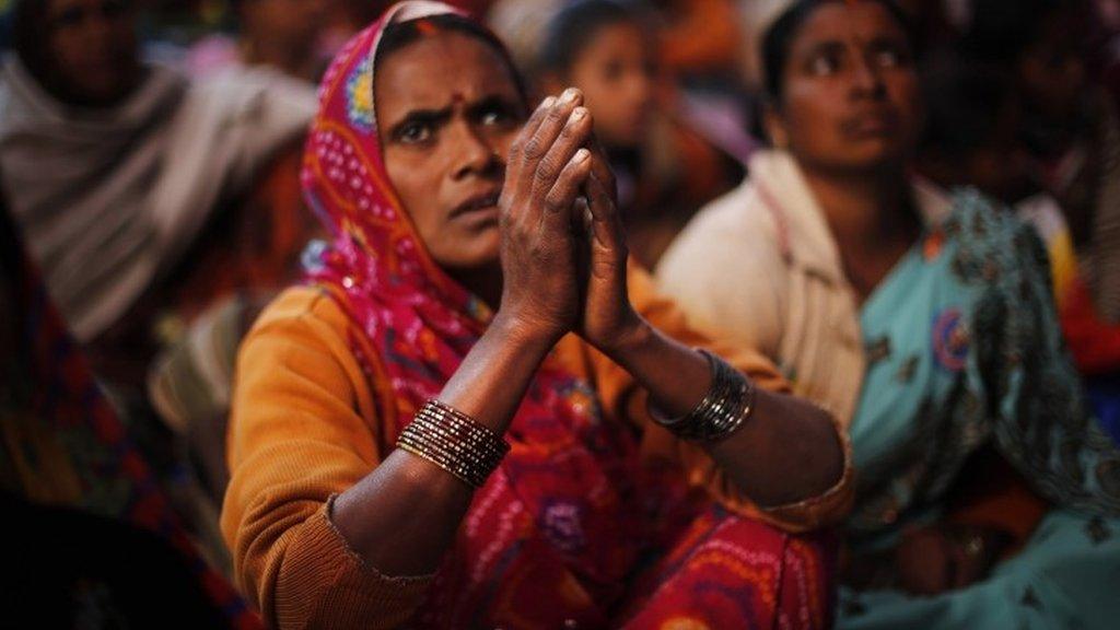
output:
[[[704, 348], [724, 356], [758, 387], [772, 391], [790, 391], [788, 383], [760, 353], [732, 350], [689, 328], [681, 312], [672, 302], [657, 296], [648, 275], [636, 266], [631, 266], [628, 288], [631, 302], [638, 313], [666, 335], [683, 344]], [[608, 416], [637, 425], [642, 429], [645, 456], [678, 462], [690, 483], [707, 488], [728, 509], [788, 531], [805, 531], [836, 524], [851, 509], [851, 446], [847, 433], [834, 420], [837, 439], [844, 448], [844, 472], [840, 481], [819, 497], [763, 509], [735, 487], [702, 447], [676, 438], [650, 418], [646, 393], [625, 370], [604, 354], [595, 350], [589, 352], [594, 379]]]

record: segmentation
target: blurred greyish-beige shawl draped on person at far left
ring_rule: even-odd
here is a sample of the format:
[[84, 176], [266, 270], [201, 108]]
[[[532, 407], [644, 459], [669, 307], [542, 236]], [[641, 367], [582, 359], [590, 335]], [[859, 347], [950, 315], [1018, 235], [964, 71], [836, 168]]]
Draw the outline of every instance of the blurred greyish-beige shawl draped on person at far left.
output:
[[192, 83], [150, 66], [125, 102], [83, 110], [6, 59], [3, 192], [75, 336], [88, 341], [123, 315], [315, 109], [311, 86], [272, 71]]

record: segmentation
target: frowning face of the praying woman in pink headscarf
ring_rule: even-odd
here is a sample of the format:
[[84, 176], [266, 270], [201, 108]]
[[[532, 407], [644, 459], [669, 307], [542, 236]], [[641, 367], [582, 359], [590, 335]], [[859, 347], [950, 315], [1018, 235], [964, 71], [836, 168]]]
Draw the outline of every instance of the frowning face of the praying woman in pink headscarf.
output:
[[452, 275], [495, 263], [497, 200], [525, 118], [506, 62], [438, 33], [380, 63], [374, 95], [389, 180], [432, 259]]

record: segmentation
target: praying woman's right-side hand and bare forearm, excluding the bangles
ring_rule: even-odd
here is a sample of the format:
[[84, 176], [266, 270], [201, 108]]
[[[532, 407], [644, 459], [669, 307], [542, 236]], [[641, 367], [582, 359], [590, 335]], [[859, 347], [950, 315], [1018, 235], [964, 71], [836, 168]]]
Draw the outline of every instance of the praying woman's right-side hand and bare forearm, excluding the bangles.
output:
[[[664, 416], [684, 416], [711, 389], [711, 363], [657, 330], [631, 303], [614, 175], [594, 138], [584, 146], [591, 151], [591, 169], [584, 183], [587, 209], [576, 204], [572, 216], [585, 228], [576, 256], [581, 287], [576, 332], [634, 377]], [[704, 444], [738, 492], [766, 508], [822, 495], [843, 479], [844, 450], [825, 411], [765, 391], [756, 392], [755, 405], [750, 421], [735, 435]]]

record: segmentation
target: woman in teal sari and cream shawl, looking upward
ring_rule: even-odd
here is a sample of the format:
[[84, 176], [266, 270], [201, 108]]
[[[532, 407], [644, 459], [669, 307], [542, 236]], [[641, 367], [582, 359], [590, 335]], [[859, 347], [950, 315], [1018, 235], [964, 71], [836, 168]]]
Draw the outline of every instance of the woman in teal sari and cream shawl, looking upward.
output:
[[[786, 4], [763, 40], [775, 149], [657, 271], [693, 325], [763, 349], [847, 423], [839, 627], [1116, 627], [1120, 452], [1088, 413], [1042, 244], [908, 175], [923, 112], [893, 3]], [[962, 507], [991, 483], [993, 509]]]

